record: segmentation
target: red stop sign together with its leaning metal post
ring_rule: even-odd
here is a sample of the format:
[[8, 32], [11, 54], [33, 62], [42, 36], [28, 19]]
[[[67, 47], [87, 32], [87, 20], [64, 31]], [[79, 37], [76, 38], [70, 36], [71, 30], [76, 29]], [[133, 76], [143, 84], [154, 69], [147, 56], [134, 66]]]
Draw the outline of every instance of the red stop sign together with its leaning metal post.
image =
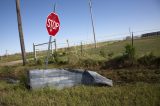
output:
[[54, 12], [51, 12], [46, 21], [46, 28], [48, 31], [48, 34], [50, 35], [49, 37], [49, 43], [48, 43], [48, 52], [47, 52], [47, 58], [46, 58], [46, 68], [48, 66], [48, 58], [50, 56], [50, 46], [51, 46], [51, 41], [52, 41], [52, 36], [55, 36], [57, 32], [59, 31], [60, 27], [60, 21], [58, 15], [55, 13], [55, 7], [56, 4], [54, 5]]

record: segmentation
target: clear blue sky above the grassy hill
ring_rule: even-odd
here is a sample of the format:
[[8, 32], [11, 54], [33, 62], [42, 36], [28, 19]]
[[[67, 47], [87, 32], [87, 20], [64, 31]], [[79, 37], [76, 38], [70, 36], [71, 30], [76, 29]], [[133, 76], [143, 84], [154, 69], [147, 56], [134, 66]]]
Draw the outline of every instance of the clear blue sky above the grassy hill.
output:
[[[46, 17], [54, 9], [61, 27], [57, 43], [93, 41], [88, 0], [20, 0], [26, 51], [49, 40]], [[160, 30], [160, 0], [92, 0], [96, 38], [117, 39], [131, 31]], [[144, 32], [145, 32], [144, 31]], [[143, 33], [144, 33], [143, 32]], [[138, 34], [138, 33], [135, 33]], [[20, 52], [15, 0], [0, 0], [0, 55]]]

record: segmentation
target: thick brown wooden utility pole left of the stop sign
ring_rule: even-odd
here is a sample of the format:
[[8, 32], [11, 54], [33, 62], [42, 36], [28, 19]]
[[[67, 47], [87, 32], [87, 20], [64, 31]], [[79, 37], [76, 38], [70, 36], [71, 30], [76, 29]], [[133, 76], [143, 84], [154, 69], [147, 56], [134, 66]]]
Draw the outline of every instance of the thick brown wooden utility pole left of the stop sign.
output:
[[21, 45], [23, 65], [26, 65], [26, 52], [25, 52], [25, 45], [24, 45], [24, 38], [23, 38], [23, 31], [22, 31], [22, 21], [21, 21], [19, 0], [16, 0], [16, 10], [17, 10], [17, 21], [18, 21], [19, 39], [20, 39], [20, 45]]

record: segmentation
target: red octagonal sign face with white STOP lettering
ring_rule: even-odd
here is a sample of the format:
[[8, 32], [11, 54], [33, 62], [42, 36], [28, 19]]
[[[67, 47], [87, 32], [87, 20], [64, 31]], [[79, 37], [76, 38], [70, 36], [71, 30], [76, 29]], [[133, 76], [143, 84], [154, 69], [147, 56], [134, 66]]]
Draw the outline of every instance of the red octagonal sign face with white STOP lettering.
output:
[[55, 36], [59, 31], [60, 21], [56, 13], [50, 13], [47, 17], [46, 28], [50, 36]]

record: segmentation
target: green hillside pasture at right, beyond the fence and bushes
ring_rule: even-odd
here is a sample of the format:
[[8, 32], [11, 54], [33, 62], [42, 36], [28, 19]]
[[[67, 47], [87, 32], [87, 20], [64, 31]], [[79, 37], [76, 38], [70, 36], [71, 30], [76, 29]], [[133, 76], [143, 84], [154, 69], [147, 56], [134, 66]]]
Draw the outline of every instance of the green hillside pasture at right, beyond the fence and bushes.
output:
[[[131, 44], [131, 40], [124, 40], [119, 42], [114, 42], [109, 45], [104, 45], [96, 50], [94, 48], [89, 49], [87, 52], [89, 54], [99, 54], [102, 50], [106, 54], [113, 52], [114, 56], [122, 55], [124, 51], [124, 46], [126, 44]], [[136, 55], [141, 57], [145, 54], [153, 52], [156, 56], [160, 56], [160, 37], [149, 37], [134, 40], [134, 47], [136, 48]]]

